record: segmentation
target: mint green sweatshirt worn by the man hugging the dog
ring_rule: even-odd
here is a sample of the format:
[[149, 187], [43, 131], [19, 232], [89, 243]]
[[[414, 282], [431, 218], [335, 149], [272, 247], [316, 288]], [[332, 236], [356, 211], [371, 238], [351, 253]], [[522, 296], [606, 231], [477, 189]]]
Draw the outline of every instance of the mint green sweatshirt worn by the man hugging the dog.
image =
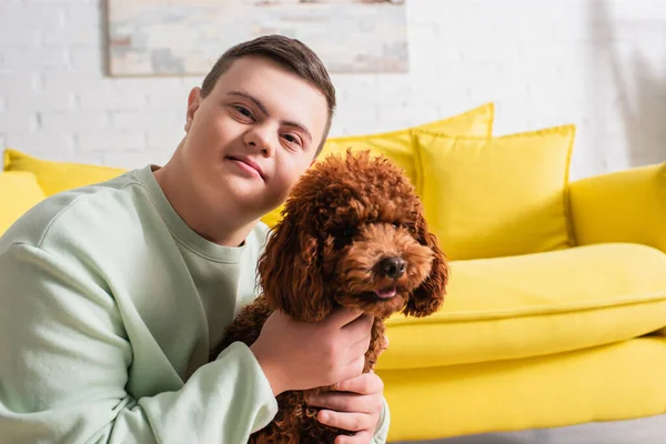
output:
[[[239, 248], [193, 232], [151, 167], [47, 199], [0, 239], [7, 443], [245, 443], [278, 404], [234, 343], [268, 228]], [[384, 443], [386, 403], [373, 443]]]

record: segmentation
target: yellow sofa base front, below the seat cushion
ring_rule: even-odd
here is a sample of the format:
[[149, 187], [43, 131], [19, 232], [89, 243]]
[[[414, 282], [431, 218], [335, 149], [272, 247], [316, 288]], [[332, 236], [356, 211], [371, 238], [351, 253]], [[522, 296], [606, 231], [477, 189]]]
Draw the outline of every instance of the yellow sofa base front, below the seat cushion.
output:
[[389, 442], [628, 420], [665, 412], [666, 337], [377, 374], [391, 407]]

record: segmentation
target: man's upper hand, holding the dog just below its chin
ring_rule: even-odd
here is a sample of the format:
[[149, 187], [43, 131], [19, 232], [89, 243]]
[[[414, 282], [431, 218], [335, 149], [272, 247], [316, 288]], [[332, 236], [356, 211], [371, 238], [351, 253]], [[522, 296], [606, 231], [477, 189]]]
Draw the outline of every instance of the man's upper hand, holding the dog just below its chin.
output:
[[250, 350], [275, 396], [331, 385], [363, 372], [372, 324], [371, 315], [346, 307], [314, 324], [275, 311]]

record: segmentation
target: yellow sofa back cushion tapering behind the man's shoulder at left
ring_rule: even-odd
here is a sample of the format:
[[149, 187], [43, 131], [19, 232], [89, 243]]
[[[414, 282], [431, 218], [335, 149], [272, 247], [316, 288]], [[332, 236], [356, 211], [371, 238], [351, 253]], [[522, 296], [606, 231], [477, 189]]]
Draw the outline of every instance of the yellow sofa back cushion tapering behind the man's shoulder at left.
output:
[[12, 149], [4, 151], [4, 171], [33, 173], [47, 195], [103, 182], [125, 172], [118, 168], [42, 160]]

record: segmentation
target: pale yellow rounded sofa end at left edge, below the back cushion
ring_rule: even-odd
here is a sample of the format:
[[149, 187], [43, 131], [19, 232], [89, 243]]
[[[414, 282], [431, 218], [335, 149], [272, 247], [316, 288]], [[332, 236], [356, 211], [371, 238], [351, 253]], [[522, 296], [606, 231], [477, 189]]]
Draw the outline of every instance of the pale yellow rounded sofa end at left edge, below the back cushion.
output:
[[46, 198], [29, 172], [0, 173], [0, 235], [23, 213]]

